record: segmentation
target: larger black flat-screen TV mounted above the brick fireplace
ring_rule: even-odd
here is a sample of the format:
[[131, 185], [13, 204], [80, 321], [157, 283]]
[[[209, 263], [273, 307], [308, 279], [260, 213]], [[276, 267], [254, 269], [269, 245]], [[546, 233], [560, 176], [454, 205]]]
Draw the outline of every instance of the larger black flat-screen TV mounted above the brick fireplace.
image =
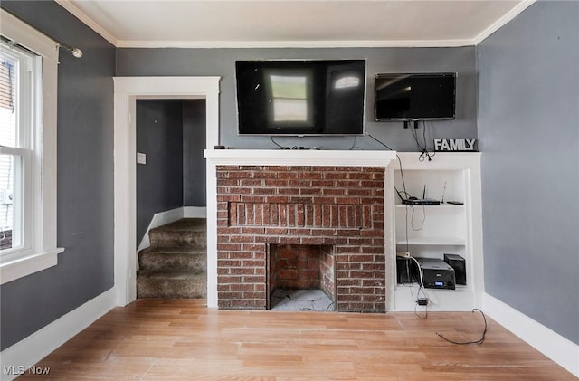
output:
[[235, 62], [240, 135], [362, 135], [365, 61]]

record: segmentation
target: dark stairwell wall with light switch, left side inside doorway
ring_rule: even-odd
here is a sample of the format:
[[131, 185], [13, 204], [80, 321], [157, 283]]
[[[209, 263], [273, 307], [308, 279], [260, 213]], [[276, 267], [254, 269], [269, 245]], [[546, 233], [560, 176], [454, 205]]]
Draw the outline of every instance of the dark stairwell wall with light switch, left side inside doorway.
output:
[[137, 100], [137, 244], [158, 212], [183, 205], [181, 100]]

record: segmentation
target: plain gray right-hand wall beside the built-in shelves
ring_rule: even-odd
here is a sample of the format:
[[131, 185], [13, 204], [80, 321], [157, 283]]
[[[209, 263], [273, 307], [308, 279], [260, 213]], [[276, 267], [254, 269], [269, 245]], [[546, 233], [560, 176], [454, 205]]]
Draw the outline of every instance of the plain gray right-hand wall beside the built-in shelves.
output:
[[579, 344], [579, 3], [478, 46], [487, 292]]

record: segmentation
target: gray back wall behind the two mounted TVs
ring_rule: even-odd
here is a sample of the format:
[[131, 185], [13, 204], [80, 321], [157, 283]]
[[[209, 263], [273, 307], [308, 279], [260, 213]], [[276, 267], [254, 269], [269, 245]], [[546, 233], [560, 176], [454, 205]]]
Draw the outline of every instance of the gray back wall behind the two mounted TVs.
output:
[[[276, 148], [270, 138], [237, 136], [235, 61], [257, 59], [365, 59], [365, 129], [400, 151], [417, 150], [410, 129], [403, 124], [372, 121], [374, 77], [379, 72], [456, 71], [456, 120], [428, 123], [427, 139], [476, 138], [475, 48], [382, 48], [382, 49], [118, 49], [117, 75], [218, 75], [220, 83], [220, 143], [238, 148]], [[422, 133], [422, 129], [420, 131]], [[347, 149], [354, 138], [278, 138], [283, 145]], [[371, 138], [359, 137], [357, 147], [383, 149]]]

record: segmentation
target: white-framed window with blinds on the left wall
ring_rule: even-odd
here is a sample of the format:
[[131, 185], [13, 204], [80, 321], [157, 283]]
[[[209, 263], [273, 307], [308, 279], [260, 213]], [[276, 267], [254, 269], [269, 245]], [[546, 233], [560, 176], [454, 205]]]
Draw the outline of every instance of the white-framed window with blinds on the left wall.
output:
[[57, 46], [0, 10], [0, 284], [57, 263]]

